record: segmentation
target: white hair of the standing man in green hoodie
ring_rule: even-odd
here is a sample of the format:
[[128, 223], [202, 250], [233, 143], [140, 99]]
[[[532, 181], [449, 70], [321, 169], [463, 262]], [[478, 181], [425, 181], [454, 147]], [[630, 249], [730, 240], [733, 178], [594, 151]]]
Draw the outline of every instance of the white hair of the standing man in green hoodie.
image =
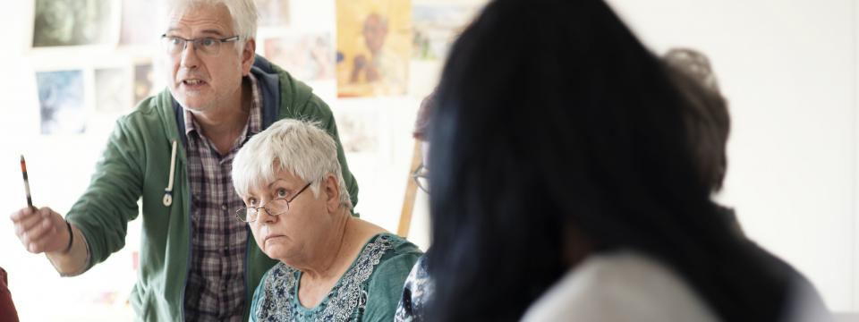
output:
[[224, 4], [233, 18], [233, 31], [240, 37], [235, 48], [239, 53], [244, 44], [251, 38], [257, 38], [257, 4], [254, 0], [169, 0], [166, 5], [166, 16], [172, 13], [182, 14], [198, 5]]

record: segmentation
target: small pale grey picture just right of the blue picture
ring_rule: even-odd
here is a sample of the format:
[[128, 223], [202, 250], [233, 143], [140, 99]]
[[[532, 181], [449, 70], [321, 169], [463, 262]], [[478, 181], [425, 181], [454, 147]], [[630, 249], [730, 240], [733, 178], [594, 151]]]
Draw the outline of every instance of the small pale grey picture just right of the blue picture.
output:
[[123, 114], [131, 111], [132, 71], [125, 68], [109, 68], [95, 71], [96, 112]]

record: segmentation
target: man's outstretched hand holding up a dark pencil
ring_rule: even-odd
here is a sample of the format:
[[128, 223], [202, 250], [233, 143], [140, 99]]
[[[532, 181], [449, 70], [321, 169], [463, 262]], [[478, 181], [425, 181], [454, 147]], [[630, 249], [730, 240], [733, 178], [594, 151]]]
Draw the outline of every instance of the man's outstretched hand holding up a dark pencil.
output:
[[69, 246], [69, 230], [63, 216], [51, 208], [22, 208], [10, 216], [15, 234], [31, 253], [63, 253]]

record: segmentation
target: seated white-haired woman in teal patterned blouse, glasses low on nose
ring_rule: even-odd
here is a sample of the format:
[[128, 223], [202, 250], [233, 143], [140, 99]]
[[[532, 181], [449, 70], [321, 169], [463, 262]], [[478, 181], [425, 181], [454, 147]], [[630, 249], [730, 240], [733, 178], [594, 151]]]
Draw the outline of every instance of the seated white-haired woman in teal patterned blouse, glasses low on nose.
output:
[[335, 141], [311, 123], [283, 120], [249, 140], [233, 162], [236, 212], [280, 262], [251, 303], [251, 321], [390, 321], [421, 250], [352, 216]]

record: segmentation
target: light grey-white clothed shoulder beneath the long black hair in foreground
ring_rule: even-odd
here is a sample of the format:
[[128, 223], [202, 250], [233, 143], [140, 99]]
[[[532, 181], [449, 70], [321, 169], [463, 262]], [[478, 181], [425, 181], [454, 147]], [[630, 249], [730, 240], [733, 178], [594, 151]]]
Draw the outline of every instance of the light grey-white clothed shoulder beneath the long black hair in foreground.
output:
[[524, 321], [716, 321], [682, 277], [631, 251], [593, 255], [535, 301]]

